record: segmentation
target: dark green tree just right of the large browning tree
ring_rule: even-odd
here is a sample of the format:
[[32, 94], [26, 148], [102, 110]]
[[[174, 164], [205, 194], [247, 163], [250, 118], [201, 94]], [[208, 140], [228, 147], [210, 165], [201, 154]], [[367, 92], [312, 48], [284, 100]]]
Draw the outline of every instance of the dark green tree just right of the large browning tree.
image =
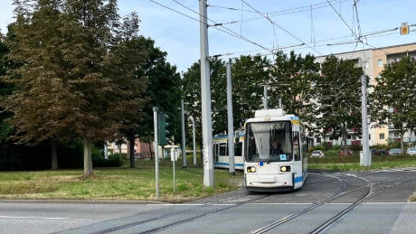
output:
[[149, 101], [144, 108], [146, 115], [137, 125], [137, 137], [149, 146], [154, 141], [153, 107], [158, 107], [169, 116], [169, 137], [181, 139], [181, 76], [176, 71], [176, 66], [166, 61], [167, 52], [156, 47], [154, 40], [140, 36], [137, 43], [147, 55], [146, 60], [140, 64], [137, 75], [147, 77], [149, 81], [147, 89], [142, 94], [142, 98], [148, 98]]

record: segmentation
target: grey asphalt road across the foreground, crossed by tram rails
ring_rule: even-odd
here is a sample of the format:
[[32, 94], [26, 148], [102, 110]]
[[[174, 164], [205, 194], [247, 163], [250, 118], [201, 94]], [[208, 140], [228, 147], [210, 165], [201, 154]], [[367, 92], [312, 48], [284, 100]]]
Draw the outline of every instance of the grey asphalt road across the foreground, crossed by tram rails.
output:
[[321, 233], [415, 233], [416, 202], [408, 198], [416, 171], [404, 170], [309, 173], [295, 192], [248, 194], [240, 188], [186, 204], [0, 201], [0, 233], [248, 233], [326, 200], [342, 180], [343, 196], [267, 233], [310, 233], [363, 196], [368, 183], [373, 197]]

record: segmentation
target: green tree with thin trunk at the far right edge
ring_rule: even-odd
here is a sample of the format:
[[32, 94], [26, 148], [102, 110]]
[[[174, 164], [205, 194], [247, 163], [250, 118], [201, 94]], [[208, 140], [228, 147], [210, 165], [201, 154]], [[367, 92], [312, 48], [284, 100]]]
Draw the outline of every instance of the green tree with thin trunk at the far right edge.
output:
[[[374, 127], [388, 125], [397, 130], [403, 147], [404, 133], [416, 126], [416, 63], [410, 56], [402, 57], [401, 61], [384, 65], [380, 76], [376, 77], [376, 85], [369, 95], [373, 108], [370, 116]], [[389, 111], [388, 109], [392, 111]]]

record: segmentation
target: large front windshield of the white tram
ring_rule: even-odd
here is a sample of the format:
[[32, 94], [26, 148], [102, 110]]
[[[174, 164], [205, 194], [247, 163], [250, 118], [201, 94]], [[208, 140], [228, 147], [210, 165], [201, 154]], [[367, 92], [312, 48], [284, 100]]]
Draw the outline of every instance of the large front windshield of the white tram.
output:
[[290, 121], [247, 123], [247, 162], [288, 162], [293, 159]]

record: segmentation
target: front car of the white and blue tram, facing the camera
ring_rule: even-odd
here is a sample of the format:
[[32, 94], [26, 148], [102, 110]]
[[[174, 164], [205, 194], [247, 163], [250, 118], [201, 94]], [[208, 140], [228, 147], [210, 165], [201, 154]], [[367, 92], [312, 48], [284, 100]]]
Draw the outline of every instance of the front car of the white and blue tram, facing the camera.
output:
[[298, 117], [286, 115], [281, 108], [256, 110], [245, 131], [246, 190], [276, 192], [302, 187], [307, 179], [309, 141]]

